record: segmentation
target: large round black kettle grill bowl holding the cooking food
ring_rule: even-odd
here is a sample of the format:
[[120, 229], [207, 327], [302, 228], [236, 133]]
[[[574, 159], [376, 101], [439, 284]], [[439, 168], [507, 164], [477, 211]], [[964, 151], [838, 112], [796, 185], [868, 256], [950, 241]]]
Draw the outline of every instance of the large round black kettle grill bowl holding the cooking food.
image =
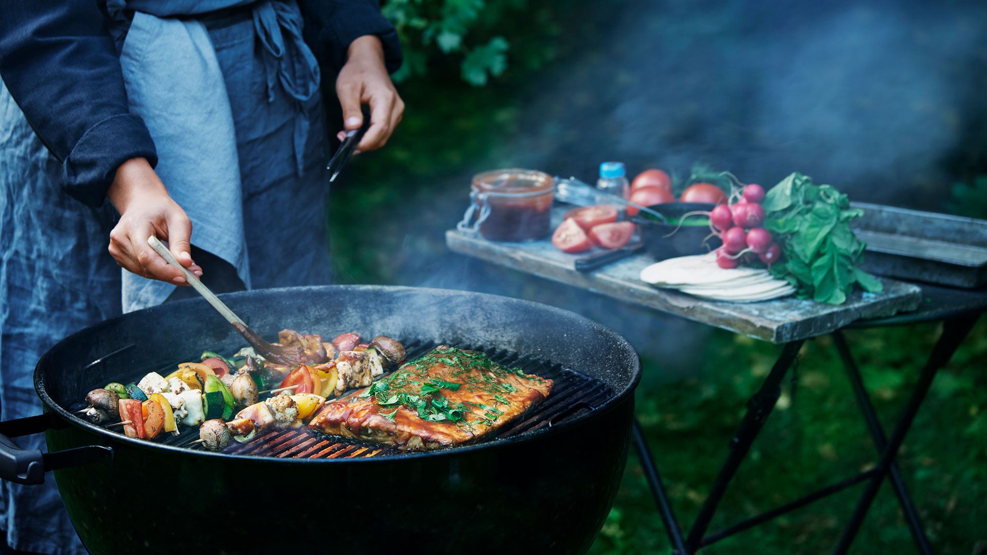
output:
[[92, 552], [588, 549], [627, 459], [641, 368], [623, 338], [564, 310], [465, 291], [325, 286], [223, 298], [265, 337], [291, 327], [482, 346], [550, 361], [608, 393], [559, 422], [438, 451], [312, 459], [192, 450], [121, 436], [66, 410], [98, 384], [243, 345], [200, 299], [126, 314], [63, 340], [35, 372], [44, 409], [61, 424], [47, 432], [49, 451], [114, 451], [111, 464], [54, 473]]

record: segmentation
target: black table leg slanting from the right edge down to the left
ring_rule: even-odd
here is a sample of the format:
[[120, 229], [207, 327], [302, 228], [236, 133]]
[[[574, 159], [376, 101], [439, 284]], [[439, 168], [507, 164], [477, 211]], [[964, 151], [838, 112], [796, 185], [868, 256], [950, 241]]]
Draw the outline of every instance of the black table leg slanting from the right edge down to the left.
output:
[[926, 393], [929, 391], [929, 386], [932, 385], [933, 378], [936, 377], [936, 372], [949, 362], [949, 358], [952, 357], [952, 354], [955, 353], [956, 349], [963, 342], [963, 339], [969, 334], [970, 329], [973, 328], [973, 324], [976, 323], [978, 316], [979, 314], [960, 316], [946, 320], [943, 323], [943, 335], [936, 342], [936, 347], [933, 348], [932, 355], [929, 356], [929, 361], [922, 368], [918, 383], [915, 385], [915, 389], [908, 399], [908, 404], [905, 406], [901, 418], [898, 420], [898, 424], [894, 427], [894, 431], [887, 440], [887, 444], [881, 450], [880, 458], [877, 461], [878, 473], [868, 482], [864, 494], [861, 496], [853, 515], [850, 517], [850, 521], [847, 523], [847, 527], [843, 530], [843, 535], [840, 537], [840, 542], [837, 544], [834, 553], [846, 553], [850, 549], [850, 545], [853, 543], [857, 532], [860, 531], [861, 524], [864, 522], [864, 517], [871, 508], [873, 498], [877, 495], [877, 490], [880, 489], [880, 485], [883, 483], [884, 474], [887, 473], [887, 469], [894, 460], [898, 448], [904, 442], [905, 435], [915, 420], [919, 406], [925, 399]]

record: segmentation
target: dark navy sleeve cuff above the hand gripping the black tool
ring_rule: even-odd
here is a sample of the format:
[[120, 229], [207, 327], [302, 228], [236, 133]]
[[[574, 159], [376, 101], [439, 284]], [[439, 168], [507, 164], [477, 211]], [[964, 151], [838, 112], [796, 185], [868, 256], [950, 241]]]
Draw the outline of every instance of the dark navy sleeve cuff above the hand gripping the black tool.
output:
[[305, 18], [305, 36], [311, 42], [328, 47], [316, 51], [320, 61], [337, 70], [346, 63], [349, 44], [360, 37], [373, 35], [384, 45], [384, 64], [390, 73], [401, 67], [401, 40], [398, 32], [380, 13], [377, 0], [300, 0]]

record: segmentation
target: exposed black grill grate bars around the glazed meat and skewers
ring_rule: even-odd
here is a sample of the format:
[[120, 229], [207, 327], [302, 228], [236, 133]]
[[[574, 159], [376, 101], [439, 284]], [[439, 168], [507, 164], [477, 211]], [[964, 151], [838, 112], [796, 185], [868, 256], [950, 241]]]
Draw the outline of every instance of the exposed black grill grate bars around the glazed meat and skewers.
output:
[[[431, 351], [437, 345], [421, 341], [410, 341], [404, 344], [409, 359], [414, 359]], [[459, 346], [463, 349], [482, 351], [499, 364], [518, 367], [529, 374], [537, 374], [555, 380], [552, 393], [536, 407], [521, 415], [513, 423], [505, 425], [500, 430], [487, 436], [484, 442], [497, 438], [518, 436], [545, 427], [552, 427], [575, 418], [586, 412], [595, 410], [613, 395], [610, 387], [604, 383], [563, 368], [561, 364], [539, 360], [529, 355], [519, 355], [502, 349], [485, 349], [476, 346]], [[203, 450], [199, 444], [192, 443], [198, 439], [195, 429], [181, 427], [179, 436], [167, 435], [159, 441], [163, 444]], [[119, 429], [111, 429], [122, 434]], [[266, 456], [276, 458], [362, 458], [401, 456], [402, 451], [391, 448], [371, 446], [352, 440], [321, 436], [308, 427], [288, 430], [272, 430], [256, 436], [246, 443], [232, 442], [224, 451], [228, 454]]]

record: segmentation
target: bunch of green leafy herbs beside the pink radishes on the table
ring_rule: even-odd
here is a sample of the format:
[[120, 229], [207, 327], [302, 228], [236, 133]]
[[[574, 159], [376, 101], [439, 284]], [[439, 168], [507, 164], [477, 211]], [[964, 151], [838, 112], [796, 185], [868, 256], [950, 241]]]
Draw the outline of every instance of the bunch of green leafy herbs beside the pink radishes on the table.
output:
[[764, 227], [784, 255], [771, 274], [792, 283], [799, 297], [842, 304], [854, 283], [866, 291], [881, 290], [880, 281], [858, 268], [866, 245], [850, 221], [864, 212], [851, 208], [846, 195], [794, 173], [773, 187], [762, 205]]

